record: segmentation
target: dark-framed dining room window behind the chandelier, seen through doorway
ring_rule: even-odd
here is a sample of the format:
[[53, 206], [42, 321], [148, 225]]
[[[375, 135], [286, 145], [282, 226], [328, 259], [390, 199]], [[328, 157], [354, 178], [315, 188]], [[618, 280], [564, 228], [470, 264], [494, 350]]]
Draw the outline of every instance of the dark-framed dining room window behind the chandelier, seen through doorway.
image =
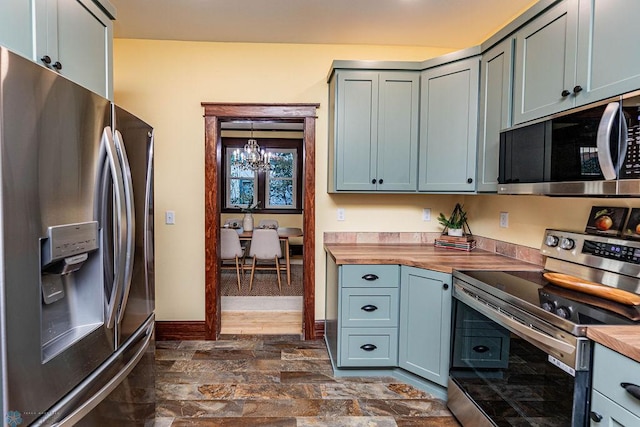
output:
[[267, 172], [247, 171], [232, 162], [236, 149], [246, 139], [223, 138], [223, 212], [237, 212], [257, 201], [256, 212], [302, 212], [302, 140], [261, 139], [261, 149], [271, 153], [272, 168]]

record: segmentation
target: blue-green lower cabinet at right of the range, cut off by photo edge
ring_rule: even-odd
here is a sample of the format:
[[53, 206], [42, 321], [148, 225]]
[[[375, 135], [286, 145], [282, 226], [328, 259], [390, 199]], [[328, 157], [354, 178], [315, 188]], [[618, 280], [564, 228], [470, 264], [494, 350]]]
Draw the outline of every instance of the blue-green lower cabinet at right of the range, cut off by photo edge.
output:
[[639, 387], [640, 363], [596, 343], [593, 351], [590, 425], [640, 426]]

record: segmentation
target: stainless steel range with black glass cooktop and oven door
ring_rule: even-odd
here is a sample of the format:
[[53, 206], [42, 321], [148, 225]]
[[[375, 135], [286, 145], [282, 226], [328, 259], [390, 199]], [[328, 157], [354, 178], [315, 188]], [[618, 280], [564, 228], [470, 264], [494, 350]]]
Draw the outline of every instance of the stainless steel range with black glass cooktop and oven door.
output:
[[547, 230], [538, 272], [454, 272], [448, 406], [464, 426], [585, 426], [589, 325], [640, 321], [640, 242]]

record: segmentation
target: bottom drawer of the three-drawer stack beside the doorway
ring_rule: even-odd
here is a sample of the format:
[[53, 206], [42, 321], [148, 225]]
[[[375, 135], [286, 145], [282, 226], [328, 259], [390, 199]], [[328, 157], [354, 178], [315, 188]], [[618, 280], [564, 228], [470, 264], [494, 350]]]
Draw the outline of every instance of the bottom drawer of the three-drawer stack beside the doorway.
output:
[[398, 365], [396, 328], [343, 328], [340, 347], [341, 367]]

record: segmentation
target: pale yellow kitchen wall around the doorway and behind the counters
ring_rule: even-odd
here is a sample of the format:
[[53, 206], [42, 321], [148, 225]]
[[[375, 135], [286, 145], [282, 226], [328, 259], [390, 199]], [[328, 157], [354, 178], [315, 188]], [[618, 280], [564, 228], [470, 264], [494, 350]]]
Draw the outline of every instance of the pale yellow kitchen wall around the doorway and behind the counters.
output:
[[[439, 231], [439, 212], [456, 202], [481, 236], [538, 247], [547, 226], [584, 229], [594, 204], [640, 206], [638, 199], [528, 196], [329, 195], [327, 72], [334, 59], [422, 61], [443, 49], [199, 43], [116, 39], [118, 104], [156, 129], [155, 231], [158, 320], [204, 319], [204, 120], [201, 102], [320, 103], [316, 127], [316, 318], [324, 317], [327, 231]], [[345, 221], [337, 221], [336, 208]], [[432, 220], [422, 221], [431, 208]], [[174, 210], [176, 224], [164, 224]], [[509, 212], [509, 228], [498, 227]]]

